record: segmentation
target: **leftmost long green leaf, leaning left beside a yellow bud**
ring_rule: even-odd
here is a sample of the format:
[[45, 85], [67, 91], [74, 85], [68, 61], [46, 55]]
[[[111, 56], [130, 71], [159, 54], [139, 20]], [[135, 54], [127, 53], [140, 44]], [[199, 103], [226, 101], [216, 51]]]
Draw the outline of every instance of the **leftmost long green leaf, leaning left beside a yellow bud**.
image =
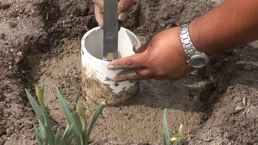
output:
[[36, 100], [33, 98], [33, 96], [29, 93], [29, 91], [26, 88], [25, 88], [25, 92], [27, 94], [27, 97], [29, 99], [29, 102], [30, 102], [33, 110], [35, 111], [36, 115], [38, 116], [38, 119], [40, 120], [40, 122], [42, 122], [44, 124], [45, 120], [44, 120], [43, 110], [41, 109], [41, 107], [38, 105]]

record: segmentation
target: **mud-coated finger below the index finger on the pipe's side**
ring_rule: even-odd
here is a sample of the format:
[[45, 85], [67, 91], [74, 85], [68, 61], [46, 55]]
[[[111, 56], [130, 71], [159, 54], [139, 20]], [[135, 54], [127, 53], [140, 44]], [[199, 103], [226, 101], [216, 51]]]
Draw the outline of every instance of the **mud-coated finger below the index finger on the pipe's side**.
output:
[[130, 80], [130, 82], [135, 82], [142, 79], [151, 78], [151, 72], [147, 68], [128, 69], [117, 73], [114, 78], [115, 82], [123, 82], [127, 80]]

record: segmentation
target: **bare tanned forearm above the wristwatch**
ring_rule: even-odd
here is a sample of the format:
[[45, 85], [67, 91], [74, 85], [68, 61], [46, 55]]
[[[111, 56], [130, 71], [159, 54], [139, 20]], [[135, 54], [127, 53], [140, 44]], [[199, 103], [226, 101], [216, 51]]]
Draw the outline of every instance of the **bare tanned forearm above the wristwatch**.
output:
[[217, 54], [258, 40], [258, 0], [225, 0], [193, 20], [189, 34], [196, 49]]

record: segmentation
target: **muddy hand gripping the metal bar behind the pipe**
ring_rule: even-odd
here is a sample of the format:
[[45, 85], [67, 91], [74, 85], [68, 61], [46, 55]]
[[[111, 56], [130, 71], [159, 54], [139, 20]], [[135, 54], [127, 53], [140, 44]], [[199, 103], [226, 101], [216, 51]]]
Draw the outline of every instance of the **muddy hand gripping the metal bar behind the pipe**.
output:
[[[104, 0], [93, 0], [95, 3], [95, 17], [100, 28], [103, 28], [103, 10]], [[118, 20], [120, 25], [125, 25], [127, 22], [127, 13], [132, 8], [134, 0], [118, 0]]]

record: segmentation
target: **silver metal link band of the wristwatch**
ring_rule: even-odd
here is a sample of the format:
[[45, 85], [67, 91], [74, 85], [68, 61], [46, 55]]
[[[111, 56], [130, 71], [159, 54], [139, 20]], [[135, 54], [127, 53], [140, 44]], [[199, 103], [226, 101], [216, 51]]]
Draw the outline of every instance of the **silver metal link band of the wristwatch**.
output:
[[183, 25], [180, 27], [180, 39], [184, 48], [184, 52], [187, 55], [187, 61], [194, 55], [201, 54], [199, 51], [195, 49], [193, 46], [193, 43], [191, 41], [191, 38], [189, 36], [188, 26], [189, 23], [192, 22], [192, 20], [189, 20], [187, 22], [184, 22]]

